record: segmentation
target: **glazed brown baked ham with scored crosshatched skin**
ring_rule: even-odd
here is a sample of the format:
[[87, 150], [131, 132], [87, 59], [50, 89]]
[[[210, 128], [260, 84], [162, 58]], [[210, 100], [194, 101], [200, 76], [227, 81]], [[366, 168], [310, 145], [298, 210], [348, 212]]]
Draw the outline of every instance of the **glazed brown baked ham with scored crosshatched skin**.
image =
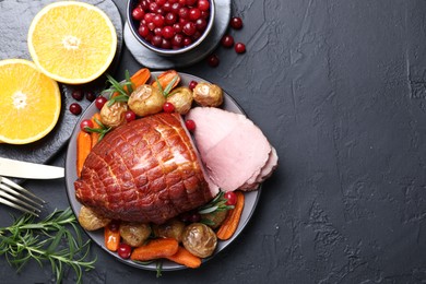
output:
[[205, 204], [218, 192], [180, 115], [166, 113], [105, 135], [74, 187], [76, 199], [105, 217], [156, 224]]

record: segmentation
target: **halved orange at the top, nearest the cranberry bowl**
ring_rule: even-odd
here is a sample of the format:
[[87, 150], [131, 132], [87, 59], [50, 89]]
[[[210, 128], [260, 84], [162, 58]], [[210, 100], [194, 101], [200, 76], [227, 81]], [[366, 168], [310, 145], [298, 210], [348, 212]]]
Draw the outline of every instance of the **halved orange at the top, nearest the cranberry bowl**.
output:
[[100, 76], [117, 50], [110, 19], [84, 2], [59, 1], [43, 8], [28, 31], [33, 61], [58, 82], [82, 84]]

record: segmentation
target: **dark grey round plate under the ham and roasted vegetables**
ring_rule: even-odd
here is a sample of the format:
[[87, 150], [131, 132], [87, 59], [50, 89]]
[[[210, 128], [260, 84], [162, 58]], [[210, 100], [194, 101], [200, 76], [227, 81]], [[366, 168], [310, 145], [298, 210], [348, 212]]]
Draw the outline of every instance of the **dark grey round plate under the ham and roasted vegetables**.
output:
[[[152, 72], [152, 78], [155, 78], [161, 72]], [[180, 73], [181, 76], [181, 85], [189, 85], [189, 82], [194, 80], [197, 82], [204, 81], [206, 80], [197, 78], [194, 75], [189, 75], [185, 73]], [[225, 93], [225, 99], [223, 104], [223, 108], [237, 113], [237, 114], [244, 114], [242, 109], [237, 105], [237, 103], [228, 95]], [[92, 104], [87, 110], [83, 114], [81, 119], [85, 118], [91, 118], [98, 109], [94, 104]], [[74, 131], [72, 132], [71, 140], [68, 146], [68, 152], [67, 152], [67, 161], [66, 161], [66, 185], [67, 185], [67, 193], [68, 198], [71, 204], [72, 210], [74, 211], [75, 215], [79, 215], [81, 204], [76, 201], [75, 194], [74, 194], [74, 181], [76, 180], [76, 170], [75, 170], [75, 139], [76, 135], [80, 131], [80, 121], [75, 125]], [[213, 258], [215, 255], [217, 255], [220, 251], [222, 251], [225, 247], [227, 247], [229, 244], [233, 242], [233, 240], [241, 233], [244, 227], [247, 225], [249, 222], [251, 215], [255, 212], [256, 205], [258, 203], [260, 196], [260, 189], [251, 192], [246, 192], [245, 193], [245, 206], [241, 215], [241, 221], [238, 225], [237, 232], [234, 234], [234, 236], [226, 240], [226, 241], [218, 241], [217, 244], [217, 249], [215, 253], [210, 257], [209, 259]], [[114, 258], [117, 258], [118, 260], [132, 265], [137, 267], [140, 269], [145, 269], [145, 270], [156, 270], [156, 263], [151, 263], [147, 265], [142, 265], [140, 263], [133, 262], [131, 260], [123, 260], [121, 259], [116, 252], [111, 252], [108, 249], [106, 249], [104, 245], [104, 230], [98, 229], [95, 232], [86, 232], [87, 235], [93, 239], [94, 242], [96, 242], [99, 247], [102, 247], [105, 251], [110, 253]], [[249, 249], [249, 248], [247, 248]], [[208, 261], [209, 259], [204, 259], [204, 262]], [[170, 271], [170, 270], [180, 270], [180, 269], [186, 269], [186, 267], [176, 264], [169, 261], [164, 261], [163, 262], [163, 269], [164, 271]]]

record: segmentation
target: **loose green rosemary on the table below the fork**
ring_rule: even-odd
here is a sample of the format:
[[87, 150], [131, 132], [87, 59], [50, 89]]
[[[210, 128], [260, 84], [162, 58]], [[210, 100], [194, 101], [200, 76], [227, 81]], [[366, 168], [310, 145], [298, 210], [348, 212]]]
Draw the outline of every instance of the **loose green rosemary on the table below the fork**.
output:
[[94, 260], [86, 260], [90, 240], [83, 242], [71, 209], [55, 210], [45, 220], [34, 223], [34, 216], [22, 215], [9, 227], [0, 228], [0, 255], [16, 271], [35, 260], [40, 267], [49, 262], [60, 283], [66, 267], [71, 267], [81, 283], [83, 271], [94, 269]]

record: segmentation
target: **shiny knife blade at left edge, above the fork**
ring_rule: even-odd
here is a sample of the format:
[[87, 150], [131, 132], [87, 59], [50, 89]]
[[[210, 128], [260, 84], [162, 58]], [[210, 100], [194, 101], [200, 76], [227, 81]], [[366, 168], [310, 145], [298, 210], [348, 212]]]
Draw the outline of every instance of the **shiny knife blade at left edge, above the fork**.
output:
[[64, 176], [64, 168], [0, 157], [0, 176], [56, 179]]

